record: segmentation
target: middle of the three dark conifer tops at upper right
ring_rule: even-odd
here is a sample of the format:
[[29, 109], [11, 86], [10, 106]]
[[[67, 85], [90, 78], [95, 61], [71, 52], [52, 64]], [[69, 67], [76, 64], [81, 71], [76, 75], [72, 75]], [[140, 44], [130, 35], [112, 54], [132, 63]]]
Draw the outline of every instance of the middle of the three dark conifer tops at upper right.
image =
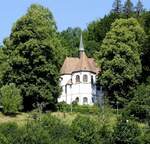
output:
[[134, 12], [133, 3], [131, 0], [126, 0], [124, 3], [124, 13], [127, 18], [131, 16], [131, 14]]

